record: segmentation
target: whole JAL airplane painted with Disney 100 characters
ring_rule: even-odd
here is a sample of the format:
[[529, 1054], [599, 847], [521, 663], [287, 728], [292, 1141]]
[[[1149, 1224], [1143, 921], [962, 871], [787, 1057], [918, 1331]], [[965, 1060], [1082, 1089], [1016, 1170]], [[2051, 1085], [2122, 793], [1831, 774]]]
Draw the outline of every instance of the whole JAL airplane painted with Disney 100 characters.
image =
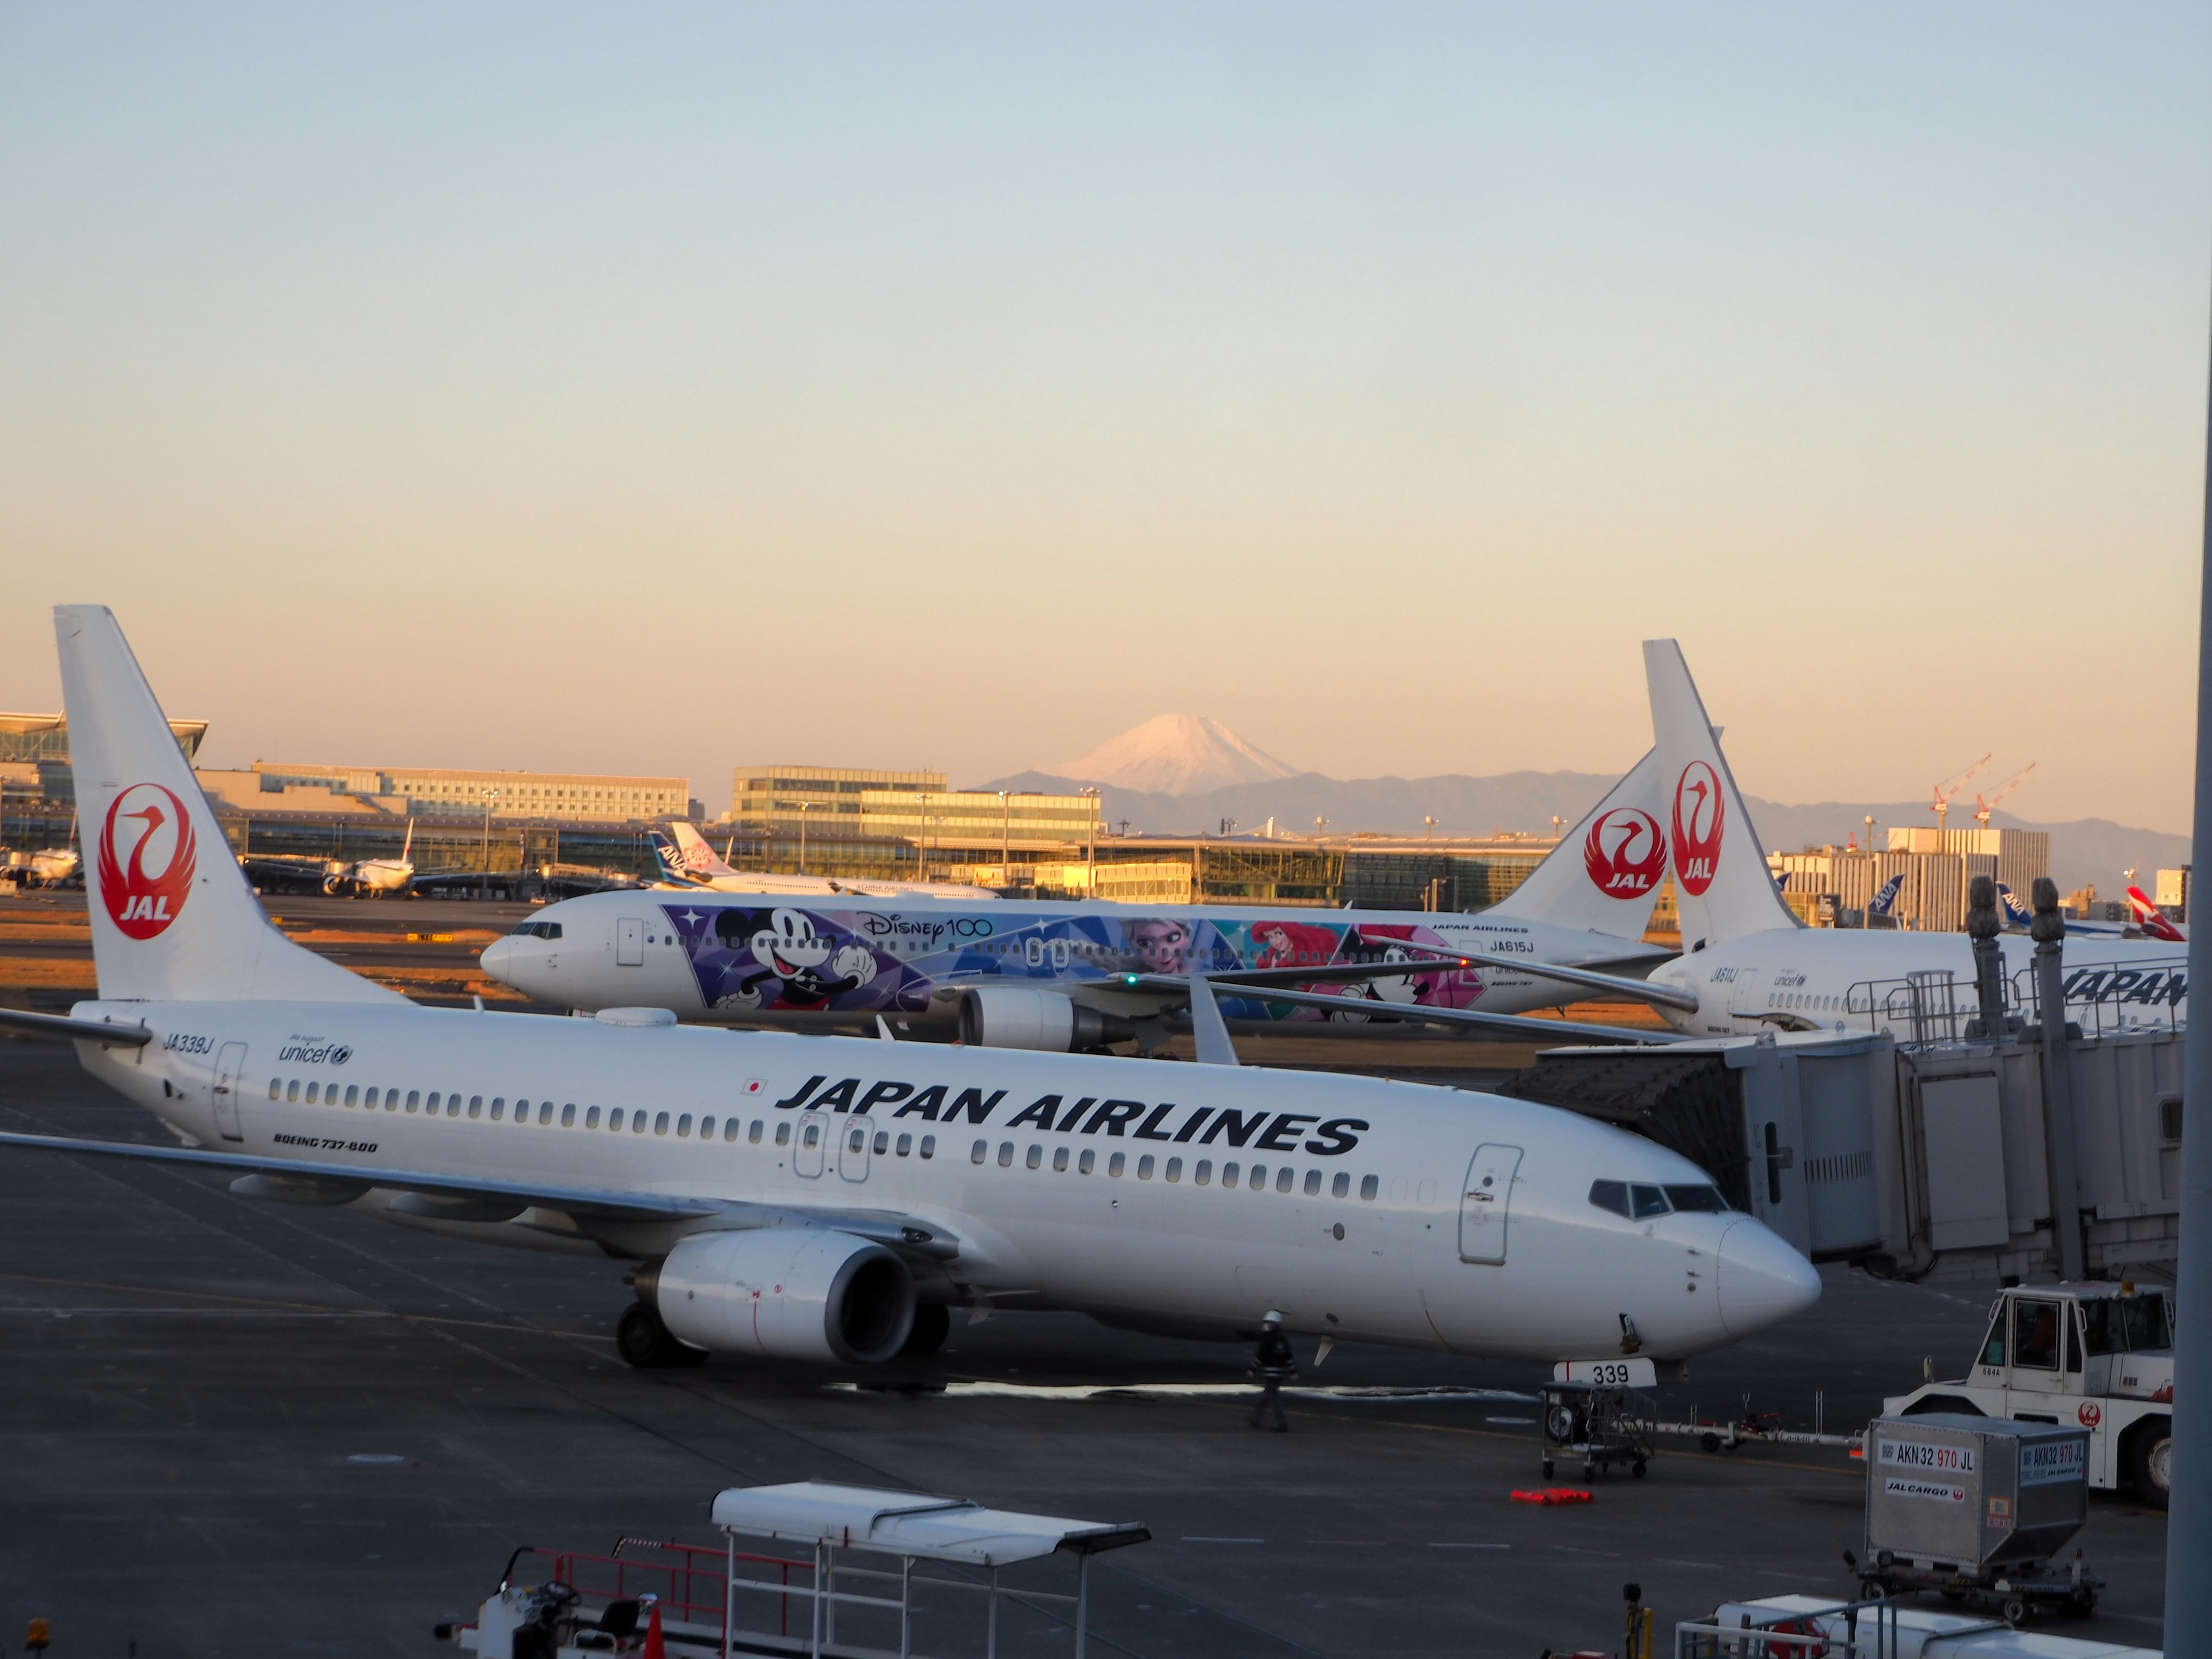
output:
[[[684, 1020], [805, 1022], [958, 1013], [967, 1042], [1152, 1046], [1206, 973], [1232, 1020], [1316, 1031], [1374, 1018], [1533, 1029], [1528, 1009], [1593, 987], [1697, 1004], [1621, 978], [1668, 958], [1644, 945], [1666, 832], [1644, 757], [1502, 905], [1480, 916], [1239, 905], [1013, 902], [909, 896], [889, 905], [588, 896], [551, 905], [484, 949], [484, 971], [542, 1002], [650, 1004]], [[1584, 1037], [1650, 1031], [1575, 1024]]]

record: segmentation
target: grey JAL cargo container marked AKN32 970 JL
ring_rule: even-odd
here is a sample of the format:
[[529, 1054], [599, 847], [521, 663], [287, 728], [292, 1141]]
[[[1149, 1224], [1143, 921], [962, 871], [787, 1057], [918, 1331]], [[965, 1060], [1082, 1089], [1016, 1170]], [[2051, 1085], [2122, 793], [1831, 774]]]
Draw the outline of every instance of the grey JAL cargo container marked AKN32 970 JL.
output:
[[2048, 1562], [2088, 1520], [2088, 1429], [1929, 1413], [1867, 1425], [1867, 1553], [1960, 1577]]

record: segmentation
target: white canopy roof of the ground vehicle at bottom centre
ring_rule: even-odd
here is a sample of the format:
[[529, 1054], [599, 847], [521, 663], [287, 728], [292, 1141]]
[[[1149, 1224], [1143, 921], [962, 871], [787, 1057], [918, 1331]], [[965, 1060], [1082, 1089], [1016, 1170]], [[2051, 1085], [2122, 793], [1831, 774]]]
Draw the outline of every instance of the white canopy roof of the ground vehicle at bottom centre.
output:
[[964, 1566], [1033, 1562], [1053, 1551], [1093, 1555], [1144, 1544], [1152, 1535], [1137, 1522], [1024, 1515], [1013, 1509], [984, 1509], [967, 1498], [841, 1486], [830, 1480], [730, 1486], [714, 1498], [714, 1524], [748, 1537], [834, 1544]]

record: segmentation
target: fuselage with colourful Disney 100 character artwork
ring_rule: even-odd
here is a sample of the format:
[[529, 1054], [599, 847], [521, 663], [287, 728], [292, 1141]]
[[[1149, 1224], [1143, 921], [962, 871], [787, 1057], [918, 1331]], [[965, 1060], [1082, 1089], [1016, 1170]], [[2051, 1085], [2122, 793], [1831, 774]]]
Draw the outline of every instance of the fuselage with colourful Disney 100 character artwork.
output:
[[[1352, 978], [1349, 1020], [1376, 1002], [1522, 1013], [1590, 995], [1493, 964], [1422, 969], [1407, 942], [1482, 951], [1553, 967], [1655, 956], [1637, 940], [1551, 922], [1433, 911], [1321, 911], [1241, 905], [962, 905], [933, 898], [867, 902], [765, 900], [692, 894], [588, 894], [538, 911], [531, 931], [493, 940], [484, 971], [564, 1009], [670, 1009], [684, 1020], [779, 1011], [920, 1013], [940, 991], [1024, 987], [1066, 993], [1106, 1011], [1128, 971], [1183, 973], [1314, 967], [1398, 958], [1405, 978]], [[557, 936], [549, 936], [557, 927]], [[1261, 991], [1221, 987], [1223, 1013], [1245, 1020], [1323, 1020], [1267, 1004]]]

